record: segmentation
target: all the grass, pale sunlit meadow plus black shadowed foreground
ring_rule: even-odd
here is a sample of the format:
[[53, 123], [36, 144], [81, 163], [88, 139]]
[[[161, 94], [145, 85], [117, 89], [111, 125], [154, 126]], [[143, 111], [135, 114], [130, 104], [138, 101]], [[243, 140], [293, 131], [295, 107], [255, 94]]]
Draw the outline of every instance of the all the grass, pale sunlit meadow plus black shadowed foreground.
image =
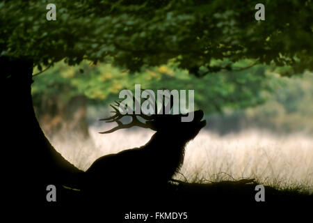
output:
[[[91, 137], [87, 141], [64, 134], [50, 140], [67, 160], [86, 170], [97, 157], [141, 146], [153, 134], [139, 128], [97, 133], [106, 128], [111, 126], [90, 126]], [[313, 139], [304, 134], [279, 136], [246, 130], [220, 136], [202, 130], [186, 147], [184, 165], [161, 194], [152, 190], [149, 196], [130, 193], [130, 197], [120, 198], [115, 193], [99, 191], [97, 196], [86, 198], [81, 191], [64, 188], [65, 196], [61, 197], [67, 198], [66, 210], [74, 206], [75, 213], [98, 213], [107, 222], [125, 222], [123, 216], [129, 211], [186, 212], [186, 222], [209, 222], [214, 218], [222, 222], [282, 222], [290, 216], [310, 217], [312, 171]], [[259, 184], [265, 186], [266, 202], [255, 201], [255, 186]]]

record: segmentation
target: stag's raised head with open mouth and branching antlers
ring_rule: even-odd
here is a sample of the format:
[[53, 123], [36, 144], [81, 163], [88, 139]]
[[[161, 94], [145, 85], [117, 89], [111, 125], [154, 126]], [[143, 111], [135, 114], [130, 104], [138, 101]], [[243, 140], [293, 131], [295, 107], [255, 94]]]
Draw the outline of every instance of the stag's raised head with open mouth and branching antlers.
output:
[[[150, 95], [151, 98], [152, 95]], [[135, 103], [138, 103], [136, 98], [132, 97]], [[153, 98], [154, 99], [154, 98]], [[153, 101], [153, 100], [152, 100]], [[109, 118], [102, 118], [100, 121], [106, 121], [107, 123], [116, 122], [118, 123], [118, 126], [115, 128], [112, 128], [111, 130], [105, 131], [105, 132], [99, 132], [102, 134], [114, 132], [116, 130], [122, 129], [122, 128], [131, 128], [133, 126], [138, 126], [141, 128], [149, 128], [151, 130], [157, 131], [161, 134], [170, 134], [171, 138], [174, 137], [181, 137], [184, 139], [184, 141], [188, 141], [190, 139], [193, 139], [198, 132], [206, 125], [206, 121], [203, 120], [203, 112], [202, 110], [198, 110], [193, 112], [193, 121], [190, 122], [182, 122], [182, 116], [188, 116], [189, 114], [165, 114], [165, 111], [170, 111], [172, 109], [172, 95], [170, 97], [170, 100], [168, 102], [168, 105], [164, 105], [165, 102], [163, 100], [163, 104], [161, 106], [161, 109], [163, 109], [163, 112], [158, 112], [157, 109], [157, 101], [154, 100], [154, 114], [146, 115], [143, 114], [141, 111], [141, 114], [135, 114], [134, 110], [129, 110], [129, 107], [126, 107], [124, 105], [121, 106], [121, 102], [115, 101], [114, 105], [111, 105], [113, 107], [114, 115]], [[123, 109], [123, 113], [127, 113], [125, 109], [128, 109], [127, 114], [121, 114], [120, 109]], [[121, 119], [125, 116], [131, 117], [130, 123], [122, 123]], [[140, 117], [140, 119], [139, 119]], [[141, 121], [143, 120], [143, 121]]]

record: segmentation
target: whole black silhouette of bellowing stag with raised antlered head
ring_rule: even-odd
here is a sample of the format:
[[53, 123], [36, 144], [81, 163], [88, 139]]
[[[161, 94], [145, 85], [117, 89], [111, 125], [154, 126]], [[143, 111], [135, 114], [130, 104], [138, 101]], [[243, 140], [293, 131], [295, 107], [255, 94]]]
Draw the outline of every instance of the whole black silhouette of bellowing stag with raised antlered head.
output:
[[[134, 102], [136, 98], [133, 97]], [[165, 188], [172, 176], [179, 171], [184, 162], [186, 144], [194, 139], [206, 125], [202, 120], [202, 110], [193, 112], [193, 121], [182, 122], [182, 116], [187, 114], [165, 114], [166, 109], [172, 109], [172, 96], [168, 105], [161, 105], [163, 112], [158, 112], [154, 100], [154, 114], [147, 115], [129, 112], [122, 114], [118, 109], [121, 102], [115, 101], [114, 115], [102, 118], [101, 121], [116, 122], [118, 126], [100, 132], [108, 134], [123, 128], [134, 126], [154, 130], [155, 133], [147, 143], [138, 148], [131, 148], [120, 153], [99, 157], [86, 171], [86, 190], [96, 192], [106, 189], [109, 192], [144, 192], [152, 188]], [[129, 108], [127, 108], [129, 109]], [[130, 123], [122, 123], [125, 116], [131, 117]], [[140, 119], [139, 119], [140, 117]], [[141, 121], [143, 120], [143, 121]]]

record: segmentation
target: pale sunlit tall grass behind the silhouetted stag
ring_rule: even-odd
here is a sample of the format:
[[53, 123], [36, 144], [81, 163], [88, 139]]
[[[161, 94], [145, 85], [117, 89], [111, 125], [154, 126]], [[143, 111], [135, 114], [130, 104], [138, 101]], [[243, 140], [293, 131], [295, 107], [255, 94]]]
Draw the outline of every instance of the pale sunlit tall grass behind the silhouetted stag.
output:
[[[91, 139], [86, 141], [75, 136], [65, 139], [62, 134], [50, 140], [67, 160], [86, 170], [97, 157], [142, 146], [154, 133], [136, 128], [111, 134], [99, 134], [99, 130], [90, 126]], [[202, 130], [186, 147], [184, 164], [175, 178], [202, 183], [255, 178], [264, 185], [312, 192], [313, 139], [261, 130], [225, 136]]]

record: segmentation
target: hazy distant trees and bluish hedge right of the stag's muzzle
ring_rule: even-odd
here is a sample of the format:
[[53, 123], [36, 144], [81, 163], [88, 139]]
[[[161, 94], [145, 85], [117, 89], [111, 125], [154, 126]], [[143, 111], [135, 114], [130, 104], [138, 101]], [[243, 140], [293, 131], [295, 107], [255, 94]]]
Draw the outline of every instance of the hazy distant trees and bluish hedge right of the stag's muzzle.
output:
[[257, 128], [276, 134], [312, 135], [313, 72], [291, 78], [272, 72], [268, 84], [272, 91], [267, 93], [264, 104], [248, 109], [227, 109], [223, 116], [212, 114], [207, 127], [221, 134]]

